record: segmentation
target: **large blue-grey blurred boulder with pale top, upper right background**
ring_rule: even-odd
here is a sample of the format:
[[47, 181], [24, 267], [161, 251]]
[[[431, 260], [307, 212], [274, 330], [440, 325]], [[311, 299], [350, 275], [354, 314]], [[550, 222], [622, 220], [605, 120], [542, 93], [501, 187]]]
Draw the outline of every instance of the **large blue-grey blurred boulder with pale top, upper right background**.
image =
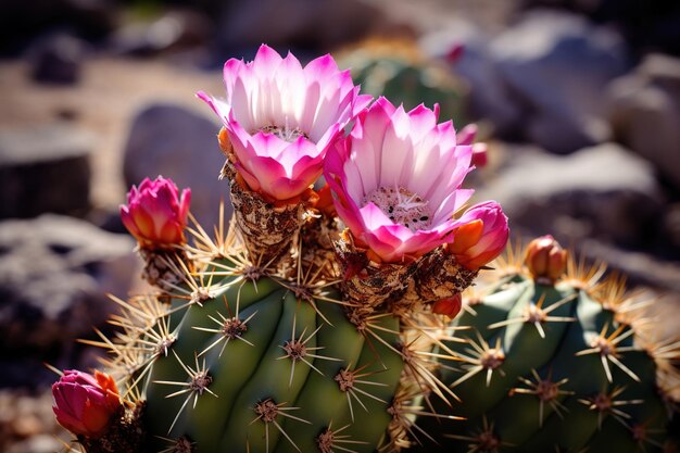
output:
[[491, 53], [511, 99], [521, 103], [528, 140], [568, 153], [609, 138], [600, 99], [628, 68], [618, 35], [576, 15], [536, 11], [498, 36]]

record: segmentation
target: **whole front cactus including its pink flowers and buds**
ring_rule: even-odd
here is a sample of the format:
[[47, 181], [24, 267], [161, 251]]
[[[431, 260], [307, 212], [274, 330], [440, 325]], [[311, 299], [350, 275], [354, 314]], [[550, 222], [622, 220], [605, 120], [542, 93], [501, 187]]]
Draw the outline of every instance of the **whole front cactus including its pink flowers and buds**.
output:
[[329, 55], [263, 46], [225, 85], [198, 96], [224, 124], [234, 217], [203, 228], [163, 177], [130, 190], [154, 290], [113, 298], [117, 330], [91, 342], [104, 373], [63, 374], [58, 420], [88, 453], [410, 446], [421, 398], [453, 399], [431, 352], [443, 315], [507, 240], [496, 203], [456, 214], [471, 144], [437, 109], [367, 106]]

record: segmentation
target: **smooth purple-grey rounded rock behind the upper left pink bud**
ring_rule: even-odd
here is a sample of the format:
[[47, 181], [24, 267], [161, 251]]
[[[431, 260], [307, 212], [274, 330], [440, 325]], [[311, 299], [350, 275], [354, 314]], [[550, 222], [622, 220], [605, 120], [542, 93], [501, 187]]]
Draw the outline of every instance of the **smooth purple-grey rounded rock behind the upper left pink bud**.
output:
[[133, 121], [123, 166], [128, 187], [159, 175], [172, 178], [180, 190], [190, 187], [191, 213], [212, 231], [219, 221], [221, 200], [226, 219], [232, 211], [228, 184], [217, 179], [225, 162], [217, 143], [221, 126], [205, 110], [200, 115], [173, 104], [143, 109]]

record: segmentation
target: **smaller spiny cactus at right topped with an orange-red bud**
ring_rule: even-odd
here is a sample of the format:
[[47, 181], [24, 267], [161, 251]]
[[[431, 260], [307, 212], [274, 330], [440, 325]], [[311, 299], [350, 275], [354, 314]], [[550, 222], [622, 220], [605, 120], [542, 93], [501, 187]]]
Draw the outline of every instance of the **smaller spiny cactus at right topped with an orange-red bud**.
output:
[[660, 449], [679, 344], [654, 341], [641, 304], [604, 266], [577, 265], [550, 237], [529, 244], [525, 265], [520, 254], [451, 326], [458, 362], [440, 377], [461, 403], [433, 407], [465, 420], [423, 428], [451, 452]]

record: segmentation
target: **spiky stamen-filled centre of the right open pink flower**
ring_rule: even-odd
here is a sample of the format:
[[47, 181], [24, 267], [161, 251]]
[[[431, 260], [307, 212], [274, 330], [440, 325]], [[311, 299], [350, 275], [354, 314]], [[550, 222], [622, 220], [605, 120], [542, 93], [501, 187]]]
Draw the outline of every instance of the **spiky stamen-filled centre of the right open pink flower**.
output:
[[428, 201], [403, 187], [379, 187], [366, 196], [363, 202], [364, 205], [368, 202], [375, 203], [392, 222], [414, 232], [430, 226]]

